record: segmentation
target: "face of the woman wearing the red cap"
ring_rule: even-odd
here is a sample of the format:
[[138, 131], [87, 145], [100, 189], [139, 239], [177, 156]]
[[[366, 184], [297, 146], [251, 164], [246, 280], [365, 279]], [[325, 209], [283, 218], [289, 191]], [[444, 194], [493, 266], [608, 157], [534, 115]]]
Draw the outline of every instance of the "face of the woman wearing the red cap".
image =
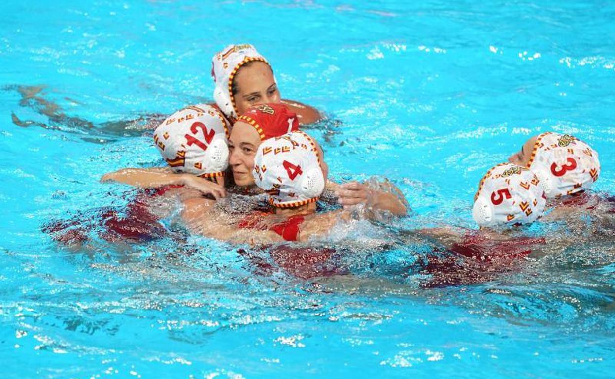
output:
[[256, 150], [261, 144], [256, 129], [249, 123], [237, 121], [229, 136], [229, 166], [232, 178], [240, 187], [254, 185], [252, 169]]

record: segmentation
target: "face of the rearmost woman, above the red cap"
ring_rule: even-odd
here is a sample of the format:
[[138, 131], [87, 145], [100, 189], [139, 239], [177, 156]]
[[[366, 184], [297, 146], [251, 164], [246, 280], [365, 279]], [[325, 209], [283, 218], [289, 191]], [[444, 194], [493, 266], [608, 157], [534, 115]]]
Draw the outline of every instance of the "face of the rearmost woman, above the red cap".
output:
[[280, 103], [280, 91], [267, 63], [253, 61], [244, 64], [237, 71], [233, 84], [236, 89], [233, 98], [237, 114], [243, 114], [253, 105]]

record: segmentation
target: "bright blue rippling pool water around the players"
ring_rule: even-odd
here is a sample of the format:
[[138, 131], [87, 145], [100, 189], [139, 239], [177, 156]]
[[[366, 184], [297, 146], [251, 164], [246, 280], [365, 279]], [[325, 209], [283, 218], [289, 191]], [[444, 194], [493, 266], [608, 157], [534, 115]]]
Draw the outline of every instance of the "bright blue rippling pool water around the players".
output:
[[[421, 246], [368, 241], [472, 227], [482, 174], [541, 131], [590, 143], [595, 189], [615, 193], [614, 19], [602, 1], [2, 2], [1, 376], [612, 377], [611, 243], [423, 288]], [[415, 210], [392, 230], [355, 225], [353, 275], [258, 273], [195, 236], [71, 251], [41, 231], [129, 201], [100, 176], [160, 161], [145, 121], [112, 124], [209, 101], [211, 56], [244, 42], [284, 98], [327, 113], [310, 133], [334, 178], [386, 176]], [[45, 85], [66, 117], [21, 85]]]

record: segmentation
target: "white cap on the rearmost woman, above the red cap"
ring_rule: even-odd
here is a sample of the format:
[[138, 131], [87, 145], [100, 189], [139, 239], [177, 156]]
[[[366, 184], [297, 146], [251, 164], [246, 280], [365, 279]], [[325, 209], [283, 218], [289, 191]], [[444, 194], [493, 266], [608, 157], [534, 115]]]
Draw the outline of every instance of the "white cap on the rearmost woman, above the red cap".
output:
[[225, 115], [233, 119], [237, 118], [237, 107], [232, 95], [232, 80], [241, 66], [251, 61], [269, 64], [250, 44], [228, 45], [212, 59], [212, 77], [216, 85], [213, 100]]

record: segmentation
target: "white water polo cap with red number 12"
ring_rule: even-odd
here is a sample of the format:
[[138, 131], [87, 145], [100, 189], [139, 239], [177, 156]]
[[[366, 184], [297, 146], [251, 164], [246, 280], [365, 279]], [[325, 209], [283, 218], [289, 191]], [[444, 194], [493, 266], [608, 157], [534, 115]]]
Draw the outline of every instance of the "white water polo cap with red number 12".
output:
[[228, 167], [228, 136], [220, 111], [198, 104], [167, 117], [154, 130], [154, 143], [173, 171], [215, 178]]

